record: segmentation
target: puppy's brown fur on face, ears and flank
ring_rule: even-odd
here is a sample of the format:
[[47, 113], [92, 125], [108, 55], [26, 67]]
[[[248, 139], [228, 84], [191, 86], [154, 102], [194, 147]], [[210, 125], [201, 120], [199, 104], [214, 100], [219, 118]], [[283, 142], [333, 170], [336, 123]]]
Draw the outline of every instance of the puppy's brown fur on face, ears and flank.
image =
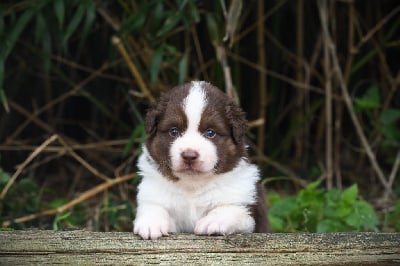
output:
[[[169, 129], [177, 127], [181, 132], [187, 128], [188, 121], [182, 102], [188, 95], [190, 83], [177, 86], [160, 97], [158, 104], [146, 115], [146, 147], [159, 164], [159, 170], [173, 181], [179, 180], [172, 174], [169, 149], [172, 139]], [[216, 174], [232, 170], [246, 156], [245, 133], [247, 130], [244, 112], [225, 93], [206, 83], [207, 106], [203, 112], [199, 131], [212, 128], [218, 136], [210, 139], [217, 147], [218, 165]], [[263, 188], [257, 187], [258, 204], [251, 206], [256, 221], [256, 232], [267, 232], [265, 195]]]

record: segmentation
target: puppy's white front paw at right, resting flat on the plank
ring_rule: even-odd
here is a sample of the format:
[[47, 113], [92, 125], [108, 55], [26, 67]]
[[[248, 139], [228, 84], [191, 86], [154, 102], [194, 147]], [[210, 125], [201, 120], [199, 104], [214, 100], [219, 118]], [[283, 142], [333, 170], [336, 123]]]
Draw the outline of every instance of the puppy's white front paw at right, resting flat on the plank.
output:
[[254, 231], [254, 219], [246, 208], [224, 206], [210, 211], [200, 219], [194, 229], [197, 235], [229, 235]]

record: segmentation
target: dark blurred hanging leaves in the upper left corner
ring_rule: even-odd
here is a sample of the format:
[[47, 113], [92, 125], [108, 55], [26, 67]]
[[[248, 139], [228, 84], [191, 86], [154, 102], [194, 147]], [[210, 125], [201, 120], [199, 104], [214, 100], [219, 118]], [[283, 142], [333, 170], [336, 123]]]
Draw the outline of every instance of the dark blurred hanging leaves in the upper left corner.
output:
[[[5, 103], [4, 66], [10, 53], [16, 48], [18, 41], [25, 40], [32, 31], [33, 43], [39, 48], [36, 56], [42, 62], [46, 73], [51, 68], [51, 55], [62, 49], [68, 52], [70, 39], [80, 32], [81, 47], [93, 26], [96, 18], [95, 3], [91, 0], [39, 0], [26, 1], [22, 8], [9, 16], [11, 21], [4, 27], [4, 16], [7, 5], [0, 6], [0, 102]], [[9, 7], [14, 8], [13, 6]], [[65, 19], [65, 18], [68, 19]], [[79, 27], [81, 26], [81, 27]]]

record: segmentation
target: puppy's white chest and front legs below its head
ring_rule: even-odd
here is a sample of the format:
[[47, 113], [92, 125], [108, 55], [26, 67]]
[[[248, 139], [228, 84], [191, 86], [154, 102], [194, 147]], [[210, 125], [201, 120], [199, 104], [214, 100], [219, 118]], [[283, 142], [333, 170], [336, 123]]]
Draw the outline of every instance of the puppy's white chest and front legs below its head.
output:
[[[138, 166], [143, 179], [138, 187], [139, 207], [134, 230], [143, 238], [154, 239], [168, 232], [224, 234], [254, 229], [248, 206], [256, 202], [255, 183], [259, 174], [257, 167], [244, 159], [230, 172], [179, 181], [162, 176], [146, 148]], [[209, 216], [217, 218], [204, 221]], [[215, 219], [229, 226], [212, 225]], [[229, 227], [226, 232], [221, 230], [224, 227]]]

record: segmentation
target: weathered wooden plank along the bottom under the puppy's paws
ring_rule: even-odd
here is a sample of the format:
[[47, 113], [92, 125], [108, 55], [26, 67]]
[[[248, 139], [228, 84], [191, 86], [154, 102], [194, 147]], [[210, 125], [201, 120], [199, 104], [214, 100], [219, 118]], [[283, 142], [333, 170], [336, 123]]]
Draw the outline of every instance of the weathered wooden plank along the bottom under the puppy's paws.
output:
[[0, 231], [1, 265], [400, 265], [398, 233], [170, 235]]

